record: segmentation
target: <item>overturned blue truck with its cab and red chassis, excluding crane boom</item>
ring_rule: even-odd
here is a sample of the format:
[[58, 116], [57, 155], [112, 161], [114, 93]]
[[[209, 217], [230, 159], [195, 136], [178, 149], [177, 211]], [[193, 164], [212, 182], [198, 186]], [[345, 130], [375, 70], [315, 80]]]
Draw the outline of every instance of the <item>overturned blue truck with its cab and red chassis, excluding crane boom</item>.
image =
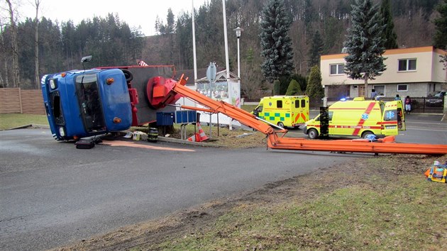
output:
[[154, 122], [157, 112], [175, 111], [175, 107], [150, 103], [153, 79], [174, 77], [172, 65], [96, 67], [46, 74], [40, 84], [53, 137], [78, 140]]

